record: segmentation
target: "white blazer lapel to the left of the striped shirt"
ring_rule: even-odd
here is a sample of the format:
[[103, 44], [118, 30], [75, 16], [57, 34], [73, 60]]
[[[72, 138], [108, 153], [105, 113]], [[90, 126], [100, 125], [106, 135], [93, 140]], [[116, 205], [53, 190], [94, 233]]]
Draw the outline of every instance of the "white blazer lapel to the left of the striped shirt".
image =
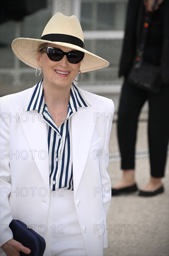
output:
[[[39, 172], [45, 182], [47, 189], [49, 187], [49, 160], [48, 160], [48, 144], [47, 144], [47, 128], [42, 116], [37, 111], [23, 112], [26, 114], [26, 122], [21, 121], [21, 125], [26, 136], [26, 140], [30, 149], [34, 151], [34, 161], [39, 169]], [[20, 115], [19, 114], [19, 115]]]

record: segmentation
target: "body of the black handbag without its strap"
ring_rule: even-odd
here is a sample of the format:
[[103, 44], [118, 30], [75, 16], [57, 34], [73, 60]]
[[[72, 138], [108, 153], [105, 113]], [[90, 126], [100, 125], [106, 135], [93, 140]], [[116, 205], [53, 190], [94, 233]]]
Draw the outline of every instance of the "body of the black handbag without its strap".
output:
[[160, 67], [144, 60], [139, 68], [135, 65], [131, 68], [127, 80], [130, 84], [154, 94], [158, 94], [162, 86]]

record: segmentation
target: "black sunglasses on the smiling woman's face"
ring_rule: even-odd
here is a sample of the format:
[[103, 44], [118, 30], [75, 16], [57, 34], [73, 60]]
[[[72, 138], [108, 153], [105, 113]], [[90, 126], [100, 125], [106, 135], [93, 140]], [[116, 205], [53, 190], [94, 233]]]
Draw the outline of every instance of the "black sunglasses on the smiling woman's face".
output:
[[55, 47], [47, 47], [45, 49], [46, 54], [51, 61], [60, 61], [63, 56], [66, 55], [70, 63], [77, 64], [84, 58], [84, 53], [77, 50], [65, 53], [61, 49]]

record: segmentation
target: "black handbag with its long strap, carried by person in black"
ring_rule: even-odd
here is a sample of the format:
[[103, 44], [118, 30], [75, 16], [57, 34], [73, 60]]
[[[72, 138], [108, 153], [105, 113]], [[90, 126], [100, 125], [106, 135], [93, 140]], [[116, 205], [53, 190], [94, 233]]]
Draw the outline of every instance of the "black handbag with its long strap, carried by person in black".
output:
[[[157, 0], [155, 0], [154, 2], [153, 9], [155, 9], [156, 4]], [[131, 67], [127, 80], [130, 82], [131, 85], [157, 94], [160, 92], [162, 87], [161, 68], [160, 66], [144, 61], [143, 59], [151, 15], [152, 12], [150, 13], [148, 11], [145, 11], [144, 13], [140, 44], [137, 49], [137, 54], [134, 58], [134, 63]]]

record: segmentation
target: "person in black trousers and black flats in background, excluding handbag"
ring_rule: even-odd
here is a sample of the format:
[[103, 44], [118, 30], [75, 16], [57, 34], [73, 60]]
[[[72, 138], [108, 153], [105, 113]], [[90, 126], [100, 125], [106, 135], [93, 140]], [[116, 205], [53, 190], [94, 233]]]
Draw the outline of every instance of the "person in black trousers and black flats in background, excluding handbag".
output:
[[[150, 153], [150, 180], [141, 196], [163, 193], [162, 178], [167, 159], [169, 141], [169, 0], [130, 0], [119, 76], [124, 83], [118, 110], [117, 133], [121, 152], [123, 176], [112, 190], [112, 195], [137, 190], [135, 181], [135, 144], [137, 121], [145, 101], [149, 103], [148, 138]], [[136, 88], [127, 79], [140, 42], [143, 13], [151, 13], [149, 30], [144, 47], [143, 60], [161, 66], [162, 88], [158, 94]]]

